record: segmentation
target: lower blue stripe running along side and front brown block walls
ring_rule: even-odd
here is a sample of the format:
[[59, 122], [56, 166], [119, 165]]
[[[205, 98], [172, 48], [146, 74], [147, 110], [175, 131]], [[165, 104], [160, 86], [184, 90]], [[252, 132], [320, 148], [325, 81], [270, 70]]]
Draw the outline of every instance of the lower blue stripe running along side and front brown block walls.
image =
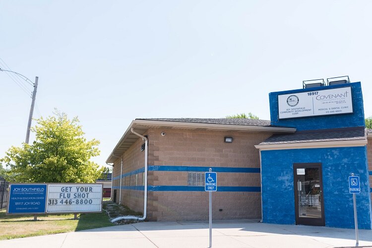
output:
[[[113, 189], [119, 189], [120, 186], [113, 186]], [[127, 190], [144, 190], [144, 186], [122, 186]], [[205, 191], [204, 186], [147, 186], [148, 191]], [[254, 186], [217, 186], [220, 192], [261, 192], [261, 187]]]

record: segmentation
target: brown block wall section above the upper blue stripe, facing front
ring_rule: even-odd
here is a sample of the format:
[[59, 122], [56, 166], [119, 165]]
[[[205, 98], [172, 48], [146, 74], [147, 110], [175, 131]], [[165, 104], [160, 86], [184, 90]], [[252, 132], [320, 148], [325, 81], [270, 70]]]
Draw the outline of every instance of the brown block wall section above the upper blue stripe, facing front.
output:
[[[161, 135], [163, 131], [165, 136]], [[154, 128], [148, 135], [153, 165], [259, 168], [259, 153], [254, 145], [271, 133]], [[225, 136], [233, 137], [233, 143], [224, 143]]]

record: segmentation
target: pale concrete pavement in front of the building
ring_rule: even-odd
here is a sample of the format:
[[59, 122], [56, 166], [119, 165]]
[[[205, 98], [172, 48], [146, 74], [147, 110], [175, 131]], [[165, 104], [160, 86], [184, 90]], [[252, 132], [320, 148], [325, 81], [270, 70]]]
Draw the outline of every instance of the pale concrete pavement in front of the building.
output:
[[[258, 221], [258, 220], [257, 220]], [[207, 222], [142, 222], [0, 241], [4, 248], [207, 248]], [[215, 221], [213, 248], [354, 247], [353, 229], [271, 225], [255, 220]], [[372, 247], [372, 231], [359, 230], [359, 246]]]

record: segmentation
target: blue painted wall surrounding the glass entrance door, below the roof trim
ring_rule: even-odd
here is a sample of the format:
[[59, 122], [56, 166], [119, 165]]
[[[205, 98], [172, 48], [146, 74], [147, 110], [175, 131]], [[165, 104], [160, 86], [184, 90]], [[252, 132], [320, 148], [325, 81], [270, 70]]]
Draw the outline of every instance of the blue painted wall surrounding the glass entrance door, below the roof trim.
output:
[[371, 229], [371, 198], [367, 147], [261, 151], [262, 219], [265, 223], [295, 224], [294, 163], [321, 163], [325, 225], [354, 228], [351, 172], [360, 177], [358, 226]]

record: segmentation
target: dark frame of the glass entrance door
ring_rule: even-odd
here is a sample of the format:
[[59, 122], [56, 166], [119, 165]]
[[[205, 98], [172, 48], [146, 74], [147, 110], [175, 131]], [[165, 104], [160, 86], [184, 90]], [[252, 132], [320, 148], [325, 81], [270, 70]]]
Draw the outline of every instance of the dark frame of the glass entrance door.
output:
[[[321, 218], [300, 218], [298, 207], [298, 188], [297, 188], [297, 168], [319, 168], [320, 200], [321, 200]], [[323, 197], [323, 179], [321, 163], [294, 163], [293, 164], [293, 186], [295, 193], [295, 216], [296, 225], [325, 226], [324, 218], [324, 197]]]

